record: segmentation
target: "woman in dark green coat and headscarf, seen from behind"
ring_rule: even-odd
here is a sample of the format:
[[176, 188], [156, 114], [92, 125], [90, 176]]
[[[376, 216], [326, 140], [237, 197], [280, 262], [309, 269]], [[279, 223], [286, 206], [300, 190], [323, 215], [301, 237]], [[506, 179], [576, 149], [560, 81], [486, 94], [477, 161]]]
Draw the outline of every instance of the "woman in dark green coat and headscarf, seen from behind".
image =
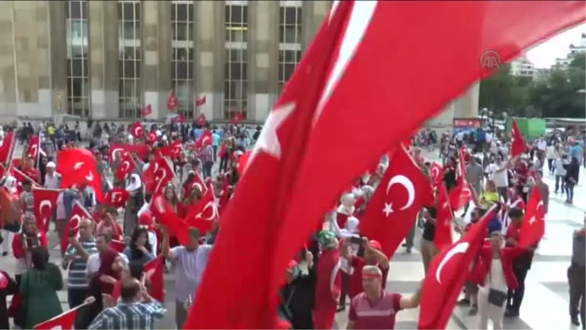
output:
[[33, 268], [22, 277], [22, 306], [25, 309], [25, 330], [61, 314], [63, 309], [57, 291], [63, 288], [63, 278], [57, 265], [49, 262], [49, 251], [36, 247], [32, 251]]

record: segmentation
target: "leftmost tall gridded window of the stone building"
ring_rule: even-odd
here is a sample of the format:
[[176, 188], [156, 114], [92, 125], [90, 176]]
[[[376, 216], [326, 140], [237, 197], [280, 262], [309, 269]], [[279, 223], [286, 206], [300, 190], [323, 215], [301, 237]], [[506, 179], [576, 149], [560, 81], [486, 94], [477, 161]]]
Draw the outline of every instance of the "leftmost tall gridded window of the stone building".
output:
[[[67, 15], [67, 113], [90, 117], [87, 0], [66, 1], [64, 4]], [[60, 107], [59, 104], [57, 106]]]

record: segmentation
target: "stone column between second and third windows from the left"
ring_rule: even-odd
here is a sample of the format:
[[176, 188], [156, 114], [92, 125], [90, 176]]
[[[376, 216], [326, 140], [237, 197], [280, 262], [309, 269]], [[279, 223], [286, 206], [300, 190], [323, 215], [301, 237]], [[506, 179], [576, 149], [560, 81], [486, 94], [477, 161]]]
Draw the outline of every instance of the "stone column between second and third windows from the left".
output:
[[149, 117], [163, 118], [171, 90], [171, 2], [147, 0], [142, 4], [144, 104], [152, 105]]

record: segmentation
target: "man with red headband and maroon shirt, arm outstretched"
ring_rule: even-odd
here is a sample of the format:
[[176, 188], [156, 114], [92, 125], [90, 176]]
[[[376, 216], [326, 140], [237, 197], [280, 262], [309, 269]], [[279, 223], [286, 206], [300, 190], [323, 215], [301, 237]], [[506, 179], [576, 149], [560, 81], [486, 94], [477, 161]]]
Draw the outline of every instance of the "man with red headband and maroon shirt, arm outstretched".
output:
[[413, 295], [403, 296], [385, 292], [383, 272], [375, 265], [362, 268], [364, 292], [352, 298], [346, 330], [395, 328], [395, 318], [401, 309], [416, 308], [421, 298], [421, 287]]

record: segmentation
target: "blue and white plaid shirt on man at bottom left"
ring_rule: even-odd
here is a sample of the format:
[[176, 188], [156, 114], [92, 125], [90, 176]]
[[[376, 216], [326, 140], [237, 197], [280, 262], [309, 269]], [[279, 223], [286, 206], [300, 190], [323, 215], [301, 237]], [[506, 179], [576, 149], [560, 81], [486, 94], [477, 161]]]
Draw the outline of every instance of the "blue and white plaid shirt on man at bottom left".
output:
[[158, 301], [147, 303], [134, 302], [104, 309], [88, 330], [154, 330], [155, 323], [163, 318], [166, 313]]

